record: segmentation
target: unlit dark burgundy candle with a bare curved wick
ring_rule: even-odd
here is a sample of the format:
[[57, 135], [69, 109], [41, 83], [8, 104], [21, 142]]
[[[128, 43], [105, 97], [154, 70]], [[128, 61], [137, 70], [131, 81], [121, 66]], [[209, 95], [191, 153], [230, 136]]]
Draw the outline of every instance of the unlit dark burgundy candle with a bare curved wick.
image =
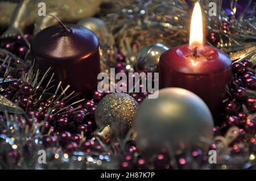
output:
[[[63, 87], [90, 95], [97, 89], [100, 73], [100, 53], [97, 36], [76, 24], [51, 26], [32, 40], [31, 51], [36, 68], [45, 72], [49, 67]], [[55, 82], [57, 84], [57, 82]]]

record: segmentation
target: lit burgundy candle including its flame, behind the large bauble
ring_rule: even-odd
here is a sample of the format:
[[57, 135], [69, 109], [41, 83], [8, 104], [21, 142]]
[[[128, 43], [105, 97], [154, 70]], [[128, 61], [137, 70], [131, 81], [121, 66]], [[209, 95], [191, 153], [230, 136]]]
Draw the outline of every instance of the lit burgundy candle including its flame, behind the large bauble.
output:
[[214, 47], [203, 45], [201, 9], [196, 3], [189, 45], [167, 50], [160, 57], [159, 87], [181, 87], [199, 95], [207, 103], [216, 124], [219, 124], [222, 100], [231, 78], [232, 61], [229, 56]]

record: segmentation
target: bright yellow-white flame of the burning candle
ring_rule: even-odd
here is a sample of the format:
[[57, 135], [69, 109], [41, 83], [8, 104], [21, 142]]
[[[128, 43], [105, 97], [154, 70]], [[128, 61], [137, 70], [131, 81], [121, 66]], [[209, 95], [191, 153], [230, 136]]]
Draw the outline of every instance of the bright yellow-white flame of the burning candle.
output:
[[195, 45], [203, 45], [203, 18], [199, 2], [193, 9], [189, 36], [189, 48]]

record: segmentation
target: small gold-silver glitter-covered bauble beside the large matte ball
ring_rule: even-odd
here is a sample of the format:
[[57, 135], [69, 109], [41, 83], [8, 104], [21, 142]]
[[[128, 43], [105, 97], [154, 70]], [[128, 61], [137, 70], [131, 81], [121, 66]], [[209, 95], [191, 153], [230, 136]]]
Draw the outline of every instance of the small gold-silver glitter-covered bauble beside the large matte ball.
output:
[[131, 128], [138, 103], [125, 93], [106, 95], [98, 103], [95, 121], [99, 128], [109, 127], [110, 134], [115, 137], [125, 137]]

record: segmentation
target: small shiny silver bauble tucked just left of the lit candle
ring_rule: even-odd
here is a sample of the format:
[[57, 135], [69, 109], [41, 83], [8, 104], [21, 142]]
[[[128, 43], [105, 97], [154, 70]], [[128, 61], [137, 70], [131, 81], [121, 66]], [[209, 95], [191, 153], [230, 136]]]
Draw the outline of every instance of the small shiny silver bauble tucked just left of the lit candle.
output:
[[144, 72], [158, 72], [158, 62], [162, 53], [169, 48], [156, 43], [147, 45], [139, 51], [137, 69]]

